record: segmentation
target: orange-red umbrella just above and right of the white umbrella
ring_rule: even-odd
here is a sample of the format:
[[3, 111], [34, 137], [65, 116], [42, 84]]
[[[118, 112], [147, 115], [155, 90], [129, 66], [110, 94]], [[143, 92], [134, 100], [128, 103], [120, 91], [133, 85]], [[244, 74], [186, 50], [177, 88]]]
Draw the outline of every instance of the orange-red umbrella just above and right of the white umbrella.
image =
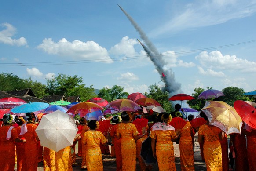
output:
[[87, 113], [94, 112], [96, 110], [102, 110], [103, 108], [93, 102], [81, 102], [72, 106], [66, 113], [77, 114], [80, 113], [80, 117], [85, 116]]

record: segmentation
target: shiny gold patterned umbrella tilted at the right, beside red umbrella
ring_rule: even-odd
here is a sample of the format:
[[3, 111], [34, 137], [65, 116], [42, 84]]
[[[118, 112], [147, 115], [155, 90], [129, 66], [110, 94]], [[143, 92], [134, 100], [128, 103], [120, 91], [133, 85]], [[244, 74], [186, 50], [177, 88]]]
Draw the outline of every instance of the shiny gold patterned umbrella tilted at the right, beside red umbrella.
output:
[[242, 119], [234, 109], [222, 101], [206, 101], [202, 111], [208, 117], [209, 123], [219, 127], [227, 135], [241, 133]]

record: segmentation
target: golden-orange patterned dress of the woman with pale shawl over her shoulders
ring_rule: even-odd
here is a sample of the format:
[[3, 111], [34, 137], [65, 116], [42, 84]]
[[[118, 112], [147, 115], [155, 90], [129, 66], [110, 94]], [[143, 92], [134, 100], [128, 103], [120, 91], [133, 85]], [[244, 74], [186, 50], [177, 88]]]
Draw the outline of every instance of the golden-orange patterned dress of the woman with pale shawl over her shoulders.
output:
[[151, 131], [151, 138], [156, 143], [156, 155], [159, 171], [176, 171], [172, 139], [177, 137], [175, 131]]

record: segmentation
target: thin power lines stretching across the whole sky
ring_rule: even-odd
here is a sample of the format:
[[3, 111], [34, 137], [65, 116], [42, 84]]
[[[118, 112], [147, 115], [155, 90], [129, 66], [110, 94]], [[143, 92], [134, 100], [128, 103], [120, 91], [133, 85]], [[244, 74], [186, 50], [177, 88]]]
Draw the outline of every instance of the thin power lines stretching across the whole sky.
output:
[[[177, 51], [177, 52], [170, 52], [165, 54], [157, 54], [157, 55], [154, 55], [154, 57], [194, 53], [198, 51], [206, 51], [206, 50], [219, 49], [219, 48], [225, 48], [225, 47], [231, 47], [231, 46], [238, 46], [241, 44], [249, 44], [253, 42], [256, 42], [256, 40], [250, 40], [250, 41], [240, 42], [236, 44], [227, 44], [227, 45], [222, 45], [217, 47], [207, 47], [207, 48], [201, 48], [201, 49], [195, 49], [195, 50], [189, 50], [189, 51]], [[131, 57], [121, 57], [121, 58], [110, 58], [110, 59], [85, 59], [85, 60], [78, 60], [78, 61], [2, 63], [0, 66], [1, 67], [6, 67], [6, 66], [17, 67], [17, 66], [72, 65], [72, 64], [112, 62], [112, 61], [122, 61], [122, 60], [142, 59], [142, 58], [148, 58], [148, 57], [146, 55], [141, 55], [141, 56], [131, 56]], [[37, 64], [37, 65], [31, 65], [31, 64]]]

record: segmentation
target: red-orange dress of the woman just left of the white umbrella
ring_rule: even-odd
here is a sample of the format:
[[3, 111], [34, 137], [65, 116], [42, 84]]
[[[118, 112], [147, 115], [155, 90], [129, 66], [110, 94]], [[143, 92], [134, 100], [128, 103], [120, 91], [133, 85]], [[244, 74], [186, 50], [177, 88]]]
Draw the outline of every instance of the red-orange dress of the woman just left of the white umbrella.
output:
[[37, 146], [37, 125], [27, 123], [28, 131], [24, 134], [26, 142], [24, 143], [24, 163], [22, 164], [22, 170], [25, 171], [37, 171], [37, 159], [38, 159], [38, 146]]

